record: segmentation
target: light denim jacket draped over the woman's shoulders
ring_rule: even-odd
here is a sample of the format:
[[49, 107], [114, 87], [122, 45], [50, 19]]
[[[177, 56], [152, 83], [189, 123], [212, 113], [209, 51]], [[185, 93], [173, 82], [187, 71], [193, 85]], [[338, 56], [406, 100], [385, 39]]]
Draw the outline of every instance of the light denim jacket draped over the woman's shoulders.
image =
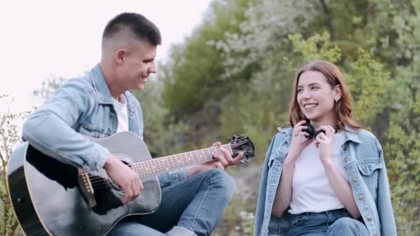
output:
[[[383, 151], [379, 141], [367, 130], [354, 132], [349, 127], [341, 147], [341, 160], [353, 197], [370, 235], [397, 235], [392, 211], [390, 188]], [[279, 129], [271, 140], [262, 168], [256, 206], [254, 235], [285, 235], [290, 213], [271, 215], [283, 162], [292, 141], [292, 128]], [[352, 131], [352, 132], [351, 132]]]

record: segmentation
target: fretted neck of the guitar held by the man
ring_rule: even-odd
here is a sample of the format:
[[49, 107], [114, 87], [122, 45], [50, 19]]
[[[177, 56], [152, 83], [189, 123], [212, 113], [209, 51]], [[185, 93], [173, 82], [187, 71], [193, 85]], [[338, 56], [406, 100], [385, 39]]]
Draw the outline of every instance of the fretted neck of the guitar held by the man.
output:
[[[230, 144], [222, 145], [232, 154]], [[187, 153], [159, 157], [147, 161], [140, 161], [131, 164], [131, 168], [139, 173], [140, 177], [156, 176], [169, 170], [202, 164], [213, 160], [214, 154], [220, 154], [220, 147], [204, 148]]]

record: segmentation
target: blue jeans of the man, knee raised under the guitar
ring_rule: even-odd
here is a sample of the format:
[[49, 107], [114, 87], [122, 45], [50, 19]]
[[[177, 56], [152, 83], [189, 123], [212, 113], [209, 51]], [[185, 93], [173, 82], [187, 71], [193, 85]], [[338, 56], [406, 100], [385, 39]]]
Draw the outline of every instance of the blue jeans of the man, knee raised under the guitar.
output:
[[224, 170], [211, 169], [162, 189], [158, 210], [124, 220], [108, 235], [164, 235], [173, 226], [210, 235], [233, 196], [235, 183]]

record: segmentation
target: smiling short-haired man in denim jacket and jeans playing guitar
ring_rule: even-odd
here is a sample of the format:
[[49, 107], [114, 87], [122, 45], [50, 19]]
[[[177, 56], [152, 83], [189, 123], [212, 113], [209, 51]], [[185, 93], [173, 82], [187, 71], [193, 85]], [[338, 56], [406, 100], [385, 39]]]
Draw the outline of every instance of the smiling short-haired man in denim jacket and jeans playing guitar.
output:
[[[128, 90], [142, 90], [156, 72], [160, 43], [160, 31], [141, 14], [111, 19], [102, 36], [100, 63], [84, 77], [70, 79], [30, 115], [23, 138], [66, 164], [88, 172], [104, 168], [124, 190], [123, 204], [137, 197], [143, 190], [137, 173], [81, 134], [102, 138], [129, 130], [143, 137], [142, 109]], [[214, 161], [160, 175], [160, 208], [123, 220], [110, 235], [210, 235], [233, 195], [233, 179], [223, 170], [242, 158], [221, 150]]]

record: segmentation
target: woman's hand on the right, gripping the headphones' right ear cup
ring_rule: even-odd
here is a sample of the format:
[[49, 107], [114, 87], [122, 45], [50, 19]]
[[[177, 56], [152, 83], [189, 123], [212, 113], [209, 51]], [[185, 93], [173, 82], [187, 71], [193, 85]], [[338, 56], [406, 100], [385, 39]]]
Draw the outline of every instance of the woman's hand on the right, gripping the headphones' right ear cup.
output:
[[332, 140], [335, 130], [332, 126], [321, 126], [318, 130], [324, 130], [315, 139], [315, 146], [319, 148], [319, 159], [325, 164], [331, 161]]

